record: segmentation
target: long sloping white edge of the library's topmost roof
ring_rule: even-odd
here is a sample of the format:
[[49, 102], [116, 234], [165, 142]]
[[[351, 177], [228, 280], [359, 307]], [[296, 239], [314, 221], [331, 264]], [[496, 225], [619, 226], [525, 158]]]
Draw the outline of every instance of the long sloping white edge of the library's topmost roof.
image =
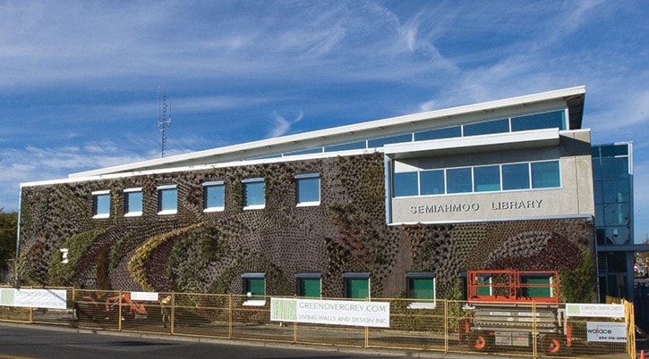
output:
[[173, 163], [193, 160], [205, 156], [217, 155], [217, 154], [228, 154], [237, 151], [259, 148], [262, 146], [277, 146], [282, 143], [289, 143], [292, 141], [302, 141], [310, 138], [329, 137], [329, 136], [343, 134], [347, 132], [358, 132], [366, 129], [373, 129], [376, 127], [389, 127], [404, 122], [431, 120], [435, 118], [443, 118], [443, 117], [455, 116], [455, 115], [465, 114], [465, 113], [487, 111], [495, 108], [510, 107], [510, 106], [515, 106], [517, 104], [530, 104], [530, 103], [550, 101], [552, 99], [578, 96], [584, 94], [585, 94], [585, 86], [578, 86], [574, 88], [561, 88], [557, 90], [540, 92], [531, 95], [509, 97], [505, 99], [488, 101], [479, 104], [465, 104], [456, 107], [450, 107], [447, 109], [433, 110], [425, 113], [413, 113], [413, 114], [390, 117], [390, 118], [385, 118], [380, 120], [364, 121], [361, 123], [338, 126], [330, 129], [317, 129], [310, 132], [303, 132], [299, 134], [287, 135], [278, 138], [266, 138], [266, 139], [246, 142], [238, 145], [211, 148], [207, 150], [191, 152], [188, 154], [178, 154], [170, 157], [141, 161], [138, 163], [126, 163], [126, 164], [106, 167], [97, 170], [82, 171], [82, 172], [72, 173], [68, 176], [68, 178], [73, 179], [73, 178], [80, 178], [80, 177], [97, 176], [97, 175], [122, 172], [122, 171], [137, 171], [137, 169], [143, 167], [160, 166], [165, 164], [171, 165]]

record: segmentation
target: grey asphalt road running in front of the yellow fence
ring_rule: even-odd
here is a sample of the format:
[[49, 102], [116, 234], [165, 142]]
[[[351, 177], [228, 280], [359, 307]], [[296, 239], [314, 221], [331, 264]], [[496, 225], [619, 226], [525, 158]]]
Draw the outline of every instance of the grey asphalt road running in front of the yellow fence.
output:
[[[109, 335], [108, 335], [109, 334]], [[41, 325], [0, 323], [0, 358], [397, 358], [397, 357], [460, 358], [465, 355], [443, 353], [398, 352], [308, 347], [290, 344], [208, 340], [205, 338], [147, 338], [139, 334], [91, 330], [51, 328]], [[473, 355], [471, 355], [473, 357]], [[491, 355], [479, 357], [489, 357]], [[478, 357], [478, 356], [475, 356]]]

